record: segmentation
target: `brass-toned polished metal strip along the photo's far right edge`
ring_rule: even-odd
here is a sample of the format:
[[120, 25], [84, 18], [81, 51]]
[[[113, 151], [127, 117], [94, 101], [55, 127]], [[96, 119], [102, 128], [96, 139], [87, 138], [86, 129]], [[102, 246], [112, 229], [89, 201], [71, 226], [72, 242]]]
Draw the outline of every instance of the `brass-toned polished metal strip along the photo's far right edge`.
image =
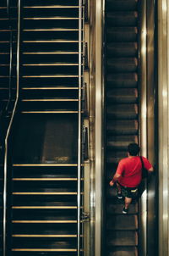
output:
[[158, 1], [158, 86], [159, 86], [159, 255], [166, 256], [169, 253], [169, 116], [168, 116], [168, 96], [169, 96], [169, 51], [168, 51], [168, 25], [169, 25], [169, 5], [167, 0]]

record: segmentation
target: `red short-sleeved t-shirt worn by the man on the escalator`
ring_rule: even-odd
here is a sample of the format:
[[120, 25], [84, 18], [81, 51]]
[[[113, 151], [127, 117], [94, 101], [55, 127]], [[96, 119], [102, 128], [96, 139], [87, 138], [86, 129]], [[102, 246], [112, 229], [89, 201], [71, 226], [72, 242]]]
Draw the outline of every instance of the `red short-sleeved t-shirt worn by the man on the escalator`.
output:
[[[152, 165], [148, 159], [142, 157], [144, 168], [149, 170]], [[117, 174], [121, 175], [118, 182], [122, 186], [135, 187], [138, 186], [142, 176], [142, 164], [138, 156], [132, 158], [125, 158], [120, 160], [117, 166]]]

